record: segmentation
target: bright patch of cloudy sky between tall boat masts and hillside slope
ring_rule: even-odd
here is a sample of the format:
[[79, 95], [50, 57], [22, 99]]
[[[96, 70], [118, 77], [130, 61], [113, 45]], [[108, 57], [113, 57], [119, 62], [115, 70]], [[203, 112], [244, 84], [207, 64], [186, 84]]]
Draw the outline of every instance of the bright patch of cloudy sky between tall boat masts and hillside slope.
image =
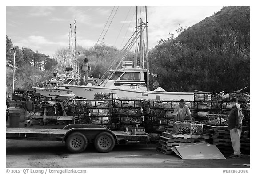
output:
[[167, 39], [169, 33], [176, 34], [179, 25], [191, 27], [218, 10], [221, 10], [220, 6], [149, 6], [149, 47], [156, 45], [160, 38]]

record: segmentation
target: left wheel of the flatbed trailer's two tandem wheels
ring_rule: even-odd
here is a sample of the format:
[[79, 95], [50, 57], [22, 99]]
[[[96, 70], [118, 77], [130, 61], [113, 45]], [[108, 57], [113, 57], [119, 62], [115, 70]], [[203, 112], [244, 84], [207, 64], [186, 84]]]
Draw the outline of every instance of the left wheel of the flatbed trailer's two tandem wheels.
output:
[[74, 132], [68, 135], [66, 147], [72, 153], [83, 152], [88, 145], [87, 138], [80, 132]]

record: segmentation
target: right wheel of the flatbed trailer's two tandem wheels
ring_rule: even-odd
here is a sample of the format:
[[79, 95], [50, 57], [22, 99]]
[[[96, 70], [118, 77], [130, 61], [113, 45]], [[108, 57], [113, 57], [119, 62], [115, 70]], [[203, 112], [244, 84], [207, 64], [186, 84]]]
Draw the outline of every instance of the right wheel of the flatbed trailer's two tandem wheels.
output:
[[115, 139], [110, 133], [102, 132], [96, 136], [94, 146], [98, 152], [110, 152], [115, 146]]

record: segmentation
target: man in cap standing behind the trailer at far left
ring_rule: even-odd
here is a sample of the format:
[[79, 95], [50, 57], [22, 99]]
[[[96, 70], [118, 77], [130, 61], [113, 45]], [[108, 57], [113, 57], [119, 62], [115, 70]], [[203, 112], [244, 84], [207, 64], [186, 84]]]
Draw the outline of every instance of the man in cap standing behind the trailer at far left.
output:
[[27, 100], [24, 102], [24, 109], [25, 109], [25, 126], [28, 124], [28, 119], [30, 126], [34, 126], [32, 116], [35, 112], [35, 104], [33, 101], [30, 100], [30, 96], [27, 97]]

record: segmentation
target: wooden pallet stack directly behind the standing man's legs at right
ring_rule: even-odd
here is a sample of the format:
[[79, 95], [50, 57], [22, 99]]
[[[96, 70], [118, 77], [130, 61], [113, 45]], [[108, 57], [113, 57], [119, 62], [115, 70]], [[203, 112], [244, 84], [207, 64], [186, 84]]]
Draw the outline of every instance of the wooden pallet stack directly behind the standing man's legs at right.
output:
[[[207, 142], [216, 145], [223, 154], [233, 153], [232, 143], [230, 140], [230, 131], [226, 126], [213, 127], [204, 125], [204, 133], [210, 135]], [[240, 141], [241, 152], [248, 153], [250, 151], [250, 138], [248, 138], [248, 134], [244, 134], [244, 130], [241, 133]]]

